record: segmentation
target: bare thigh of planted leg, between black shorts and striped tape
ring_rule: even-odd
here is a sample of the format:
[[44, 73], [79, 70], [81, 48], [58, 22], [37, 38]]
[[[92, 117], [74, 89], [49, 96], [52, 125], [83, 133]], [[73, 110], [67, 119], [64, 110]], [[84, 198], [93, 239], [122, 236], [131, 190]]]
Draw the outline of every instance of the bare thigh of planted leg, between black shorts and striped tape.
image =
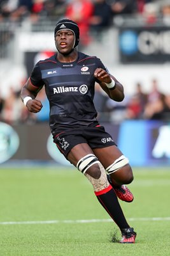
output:
[[76, 166], [78, 161], [82, 157], [84, 157], [88, 154], [94, 154], [94, 152], [92, 151], [92, 149], [89, 147], [89, 145], [87, 143], [81, 143], [81, 144], [74, 146], [70, 150], [70, 152], [67, 154], [67, 159], [70, 161], [70, 163], [72, 163], [72, 164], [74, 164], [74, 166]]

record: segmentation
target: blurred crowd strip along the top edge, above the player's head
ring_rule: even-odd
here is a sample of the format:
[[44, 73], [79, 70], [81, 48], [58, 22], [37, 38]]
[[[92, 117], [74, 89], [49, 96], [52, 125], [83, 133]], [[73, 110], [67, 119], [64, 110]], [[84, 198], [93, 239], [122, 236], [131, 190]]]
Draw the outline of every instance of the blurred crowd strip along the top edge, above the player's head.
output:
[[31, 19], [56, 20], [66, 16], [83, 29], [108, 26], [117, 15], [142, 15], [146, 23], [156, 23], [158, 17], [169, 22], [169, 0], [0, 0], [0, 21]]

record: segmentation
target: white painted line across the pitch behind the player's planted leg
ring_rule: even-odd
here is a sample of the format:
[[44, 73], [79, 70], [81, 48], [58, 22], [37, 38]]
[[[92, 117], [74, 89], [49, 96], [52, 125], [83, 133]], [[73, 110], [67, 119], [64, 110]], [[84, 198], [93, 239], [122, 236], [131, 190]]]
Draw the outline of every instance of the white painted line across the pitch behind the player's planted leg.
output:
[[[170, 221], [170, 217], [155, 218], [129, 218], [129, 221]], [[44, 221], [2, 221], [0, 225], [29, 225], [29, 224], [58, 224], [58, 223], [96, 223], [111, 222], [111, 219], [92, 219], [92, 220], [44, 220]]]

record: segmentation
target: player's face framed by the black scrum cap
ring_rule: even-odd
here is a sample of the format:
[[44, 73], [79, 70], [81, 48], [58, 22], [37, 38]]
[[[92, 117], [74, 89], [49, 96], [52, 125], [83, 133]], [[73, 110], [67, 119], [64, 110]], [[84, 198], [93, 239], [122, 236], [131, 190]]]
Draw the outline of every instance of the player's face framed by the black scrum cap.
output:
[[60, 53], [67, 54], [73, 49], [74, 34], [68, 29], [60, 30], [55, 35], [55, 44]]

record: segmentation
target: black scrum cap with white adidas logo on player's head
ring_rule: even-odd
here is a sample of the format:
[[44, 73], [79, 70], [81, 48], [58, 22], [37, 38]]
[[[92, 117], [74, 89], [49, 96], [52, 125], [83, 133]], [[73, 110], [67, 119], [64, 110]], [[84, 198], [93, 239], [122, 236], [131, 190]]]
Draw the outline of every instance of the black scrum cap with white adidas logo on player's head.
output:
[[63, 29], [68, 29], [73, 32], [73, 34], [74, 34], [73, 49], [74, 49], [78, 45], [79, 37], [80, 37], [80, 31], [78, 28], [78, 24], [76, 24], [76, 22], [74, 22], [73, 20], [69, 20], [69, 19], [59, 20], [59, 22], [57, 22], [57, 24], [55, 26], [54, 36], [56, 35], [56, 33], [58, 31], [63, 30]]

